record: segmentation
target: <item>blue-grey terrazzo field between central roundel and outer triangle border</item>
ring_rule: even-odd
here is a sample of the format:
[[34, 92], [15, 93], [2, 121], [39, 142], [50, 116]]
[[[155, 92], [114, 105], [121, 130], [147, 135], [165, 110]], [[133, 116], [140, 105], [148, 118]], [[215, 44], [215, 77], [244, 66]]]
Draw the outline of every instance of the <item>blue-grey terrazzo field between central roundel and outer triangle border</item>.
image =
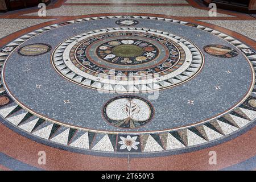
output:
[[[137, 27], [158, 29], [183, 36], [201, 50], [208, 44], [222, 44], [234, 48], [225, 40], [193, 27], [156, 20], [139, 21]], [[113, 19], [102, 19], [71, 24], [35, 36], [26, 44], [48, 43], [54, 48], [72, 35], [106, 28], [106, 24], [116, 27], [114, 22]], [[156, 28], [157, 22], [159, 24]], [[58, 36], [50, 36], [53, 34]], [[196, 36], [198, 34], [201, 35], [200, 38]], [[13, 53], [6, 64], [5, 80], [15, 97], [30, 109], [61, 122], [97, 130], [123, 131], [124, 129], [108, 125], [101, 117], [104, 103], [117, 94], [100, 94], [96, 90], [64, 80], [52, 68], [50, 55], [47, 53], [24, 57]], [[180, 86], [160, 91], [157, 100], [150, 100], [155, 107], [154, 119], [142, 129], [133, 131], [164, 130], [190, 125], [228, 110], [243, 98], [250, 87], [251, 72], [242, 53], [229, 59], [210, 56], [207, 53], [204, 53], [204, 56], [205, 65], [201, 73]], [[16, 64], [13, 64], [14, 62]], [[26, 72], [26, 68], [31, 70]], [[230, 74], [226, 73], [228, 70]], [[36, 89], [36, 84], [42, 87]], [[221, 90], [216, 90], [215, 86], [220, 86]], [[144, 98], [148, 96], [137, 95]], [[64, 100], [70, 100], [71, 103], [64, 104]], [[195, 105], [187, 104], [188, 100], [194, 100]]]

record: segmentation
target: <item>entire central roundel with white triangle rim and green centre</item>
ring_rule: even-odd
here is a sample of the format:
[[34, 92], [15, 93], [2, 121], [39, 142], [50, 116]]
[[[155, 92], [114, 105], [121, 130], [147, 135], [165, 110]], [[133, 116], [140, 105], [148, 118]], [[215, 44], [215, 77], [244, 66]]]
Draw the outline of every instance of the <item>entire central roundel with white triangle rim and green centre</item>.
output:
[[56, 70], [77, 84], [106, 92], [170, 88], [191, 79], [204, 64], [195, 45], [168, 32], [108, 28], [71, 39], [53, 52]]

